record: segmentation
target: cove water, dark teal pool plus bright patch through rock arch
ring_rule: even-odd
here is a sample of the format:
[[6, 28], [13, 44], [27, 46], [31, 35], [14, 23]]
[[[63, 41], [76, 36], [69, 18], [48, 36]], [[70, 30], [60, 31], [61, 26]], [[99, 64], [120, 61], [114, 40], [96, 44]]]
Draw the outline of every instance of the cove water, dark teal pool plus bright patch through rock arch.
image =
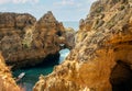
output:
[[[59, 52], [61, 56], [58, 59], [58, 64], [62, 64], [66, 56], [69, 54], [69, 49], [62, 49]], [[54, 66], [57, 64], [46, 64], [46, 65], [38, 65], [31, 68], [18, 69], [14, 70], [13, 77], [16, 78], [21, 72], [25, 72], [25, 76], [18, 82], [19, 86], [24, 88], [26, 91], [32, 91], [33, 86], [36, 81], [38, 81], [40, 75], [47, 76], [53, 71]]]

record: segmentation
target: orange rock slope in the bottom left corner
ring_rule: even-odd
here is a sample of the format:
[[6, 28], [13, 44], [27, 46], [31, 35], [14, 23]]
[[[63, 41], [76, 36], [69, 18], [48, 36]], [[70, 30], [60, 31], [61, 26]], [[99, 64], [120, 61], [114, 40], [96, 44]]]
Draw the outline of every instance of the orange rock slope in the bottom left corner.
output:
[[22, 91], [14, 79], [10, 69], [6, 66], [3, 57], [0, 55], [0, 91]]

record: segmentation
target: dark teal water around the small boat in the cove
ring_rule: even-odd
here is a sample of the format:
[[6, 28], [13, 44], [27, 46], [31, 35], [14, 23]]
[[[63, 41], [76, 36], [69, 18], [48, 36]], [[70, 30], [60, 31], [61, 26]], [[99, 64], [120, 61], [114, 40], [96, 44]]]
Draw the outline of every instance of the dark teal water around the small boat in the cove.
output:
[[26, 91], [32, 91], [33, 86], [38, 80], [40, 75], [48, 75], [53, 71], [54, 66], [48, 67], [35, 67], [35, 68], [28, 68], [28, 69], [20, 69], [13, 71], [13, 76], [18, 77], [21, 72], [25, 72], [25, 76], [18, 82], [21, 87], [23, 87]]

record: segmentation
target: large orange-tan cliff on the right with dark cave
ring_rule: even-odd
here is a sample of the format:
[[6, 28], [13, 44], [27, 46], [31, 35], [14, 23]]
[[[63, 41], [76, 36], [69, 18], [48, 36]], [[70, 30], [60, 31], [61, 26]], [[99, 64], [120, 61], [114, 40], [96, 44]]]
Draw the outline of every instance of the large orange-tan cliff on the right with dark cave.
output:
[[98, 0], [80, 21], [76, 46], [34, 91], [131, 91], [132, 1]]

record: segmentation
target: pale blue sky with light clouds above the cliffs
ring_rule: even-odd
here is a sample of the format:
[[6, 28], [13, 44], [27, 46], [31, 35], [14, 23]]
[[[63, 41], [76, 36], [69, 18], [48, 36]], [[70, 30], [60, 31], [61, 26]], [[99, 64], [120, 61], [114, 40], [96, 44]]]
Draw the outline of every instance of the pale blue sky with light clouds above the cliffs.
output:
[[52, 11], [58, 21], [79, 21], [96, 0], [0, 0], [0, 12], [31, 13], [37, 20]]

